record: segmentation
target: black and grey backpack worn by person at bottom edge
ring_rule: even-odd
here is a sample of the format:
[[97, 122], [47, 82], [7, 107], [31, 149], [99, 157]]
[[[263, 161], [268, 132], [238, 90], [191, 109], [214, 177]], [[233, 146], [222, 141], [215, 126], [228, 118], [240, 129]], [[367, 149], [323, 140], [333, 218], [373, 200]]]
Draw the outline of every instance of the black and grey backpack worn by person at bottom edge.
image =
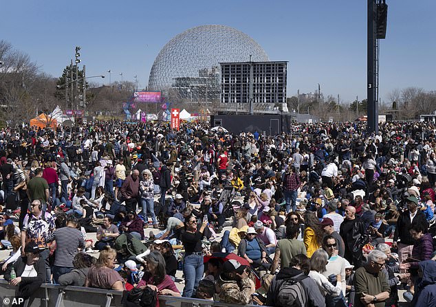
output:
[[307, 293], [301, 283], [308, 276], [304, 274], [297, 275], [284, 280], [276, 287], [275, 297], [276, 306], [279, 307], [303, 307], [307, 304]]

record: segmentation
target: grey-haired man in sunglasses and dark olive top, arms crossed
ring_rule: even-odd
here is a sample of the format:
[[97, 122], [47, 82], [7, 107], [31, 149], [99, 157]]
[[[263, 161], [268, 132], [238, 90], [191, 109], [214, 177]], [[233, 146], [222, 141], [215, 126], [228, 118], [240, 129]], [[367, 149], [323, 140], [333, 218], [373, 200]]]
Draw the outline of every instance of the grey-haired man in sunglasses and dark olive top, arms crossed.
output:
[[385, 253], [375, 249], [369, 253], [367, 264], [356, 270], [354, 274], [355, 307], [384, 307], [384, 301], [389, 299], [389, 293], [391, 293], [388, 277], [382, 272], [386, 258]]

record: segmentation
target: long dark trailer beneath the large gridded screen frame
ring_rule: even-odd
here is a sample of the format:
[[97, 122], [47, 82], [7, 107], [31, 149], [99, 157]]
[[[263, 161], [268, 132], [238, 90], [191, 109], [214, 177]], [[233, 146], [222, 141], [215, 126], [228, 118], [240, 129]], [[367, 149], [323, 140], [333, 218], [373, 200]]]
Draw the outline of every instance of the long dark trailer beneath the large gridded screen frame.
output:
[[232, 133], [257, 131], [265, 135], [279, 135], [290, 133], [292, 125], [291, 115], [211, 115], [210, 126], [222, 126]]

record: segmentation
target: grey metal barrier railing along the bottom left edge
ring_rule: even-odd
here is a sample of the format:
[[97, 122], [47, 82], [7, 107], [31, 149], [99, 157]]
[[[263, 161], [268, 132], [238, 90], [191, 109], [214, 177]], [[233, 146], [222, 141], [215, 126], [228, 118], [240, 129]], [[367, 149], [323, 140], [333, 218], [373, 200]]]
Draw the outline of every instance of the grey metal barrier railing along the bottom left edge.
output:
[[[15, 296], [17, 286], [11, 286], [6, 280], [0, 280], [0, 306], [17, 306], [20, 297]], [[111, 291], [98, 288], [78, 286], [59, 286], [42, 284], [28, 301], [28, 307], [122, 307], [122, 291]], [[160, 307], [230, 307], [207, 299], [190, 299], [186, 297], [159, 296]], [[247, 305], [253, 306], [253, 305]]]

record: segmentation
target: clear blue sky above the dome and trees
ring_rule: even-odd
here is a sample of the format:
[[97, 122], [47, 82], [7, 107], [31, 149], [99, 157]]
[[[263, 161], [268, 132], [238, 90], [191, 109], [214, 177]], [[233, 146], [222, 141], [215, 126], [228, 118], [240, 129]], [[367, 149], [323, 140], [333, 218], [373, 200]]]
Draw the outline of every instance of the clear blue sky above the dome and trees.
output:
[[[386, 39], [380, 49], [380, 98], [393, 89], [436, 90], [435, 0], [386, 0]], [[87, 76], [148, 84], [153, 60], [173, 36], [197, 25], [235, 27], [271, 60], [288, 60], [287, 95], [340, 94], [366, 98], [367, 1], [2, 1], [0, 39], [61, 76], [80, 45]], [[97, 80], [97, 79], [94, 79]]]

